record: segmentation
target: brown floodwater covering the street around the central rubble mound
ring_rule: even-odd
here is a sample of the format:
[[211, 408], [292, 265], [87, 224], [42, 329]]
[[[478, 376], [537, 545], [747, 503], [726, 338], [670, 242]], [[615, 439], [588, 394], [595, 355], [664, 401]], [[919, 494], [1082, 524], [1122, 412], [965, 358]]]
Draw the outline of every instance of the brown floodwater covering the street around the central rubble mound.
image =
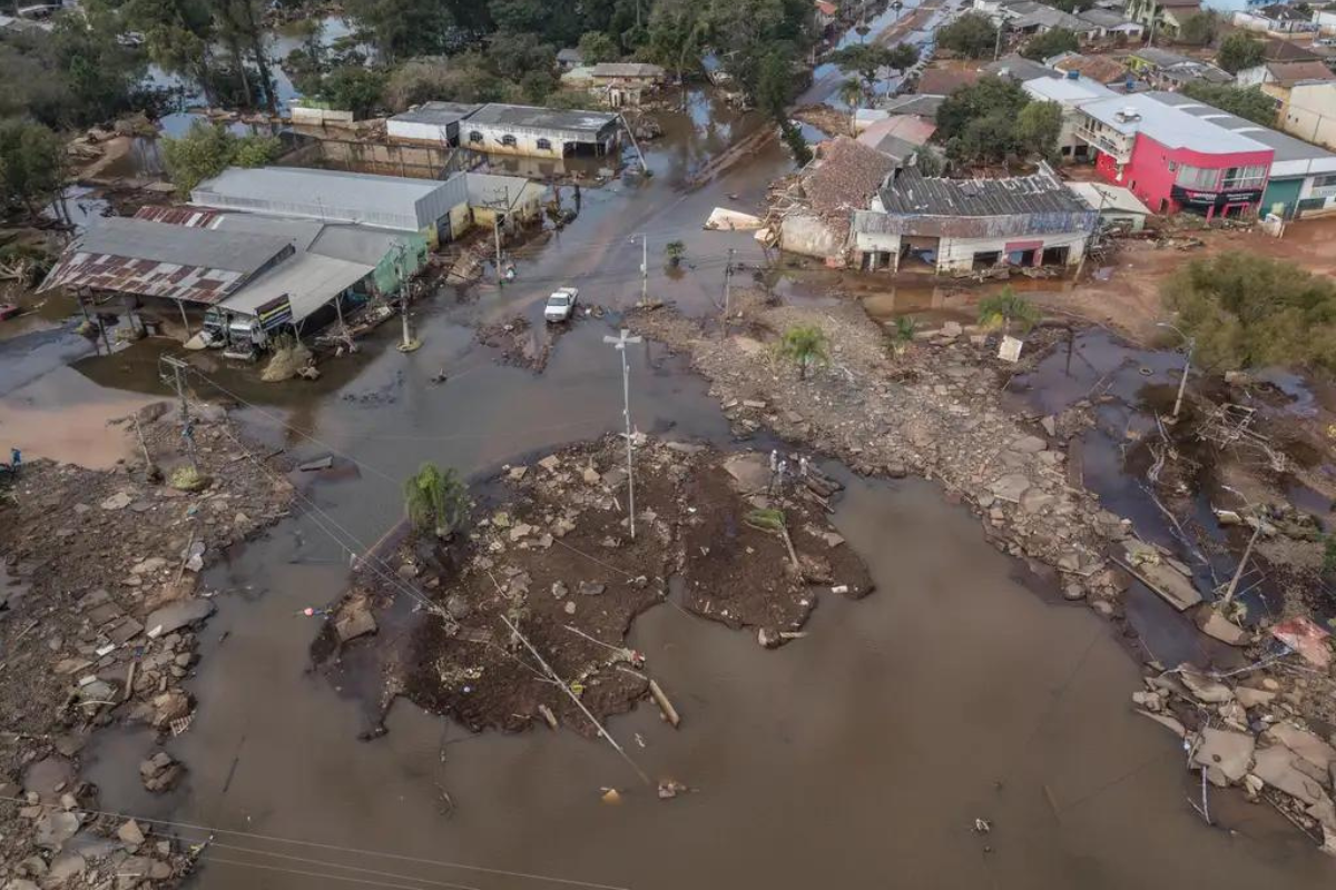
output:
[[[807, 101], [838, 85], [818, 75], [820, 96]], [[605, 745], [572, 731], [470, 735], [407, 702], [394, 706], [387, 735], [359, 741], [379, 678], [350, 674], [339, 687], [313, 673], [321, 622], [302, 610], [345, 592], [350, 551], [399, 520], [402, 480], [422, 462], [478, 479], [620, 428], [619, 356], [603, 338], [640, 299], [643, 254], [632, 239], [648, 239], [651, 298], [693, 316], [719, 312], [728, 251], [744, 278], [772, 258], [751, 232], [701, 224], [716, 205], [759, 209], [792, 161], [772, 143], [704, 188], [680, 183], [762, 125], [693, 91], [687, 112], [667, 116], [665, 136], [645, 147], [653, 175], [584, 189], [574, 224], [510, 251], [513, 284], [497, 286], [489, 270], [474, 288], [420, 303], [418, 352], [397, 352], [390, 324], [358, 355], [325, 362], [317, 383], [261, 384], [248, 367], [206, 371], [216, 390], [199, 394], [239, 402], [235, 416], [257, 439], [297, 460], [333, 455], [334, 467], [294, 471], [305, 506], [204, 576], [218, 614], [187, 682], [199, 709], [164, 746], [188, 766], [183, 783], [167, 795], [144, 790], [136, 763], [154, 742], [143, 730], [106, 730], [81, 753], [104, 809], [218, 830], [194, 886], [1256, 890], [1329, 881], [1329, 861], [1275, 810], [1224, 791], [1212, 814], [1226, 830], [1192, 811], [1185, 798], [1197, 779], [1181, 742], [1133, 714], [1141, 673], [1108, 622], [1022, 578], [938, 486], [868, 482], [835, 464], [827, 468], [847, 491], [834, 522], [867, 562], [871, 596], [824, 596], [807, 636], [775, 651], [673, 603], [632, 627], [629, 643], [683, 725], [669, 729], [645, 702], [609, 730], [651, 777], [692, 794], [659, 801]], [[671, 240], [685, 244], [673, 272], [663, 262]], [[776, 294], [820, 299], [807, 292], [819, 286], [798, 278], [782, 279]], [[609, 314], [552, 340], [541, 375], [500, 364], [474, 339], [476, 326], [517, 315], [552, 336], [541, 303], [564, 284]], [[967, 311], [931, 287], [855, 290], [878, 320]], [[106, 422], [168, 398], [156, 360], [170, 347], [148, 340], [94, 356], [72, 323], [55, 323], [0, 342], [0, 446], [13, 440], [29, 460], [111, 466], [124, 455]], [[1122, 358], [1092, 340], [1077, 376], [1059, 382], [1045, 363], [1023, 382], [1034, 392], [1017, 398], [1053, 411], [1122, 368], [1132, 376], [1110, 386], [1133, 399], [1178, 367], [1176, 355], [1154, 354], [1142, 374]], [[629, 359], [639, 430], [732, 447], [728, 420], [683, 359], [653, 342]], [[440, 372], [448, 379], [434, 383]], [[1085, 454], [1092, 487], [1140, 526], [1144, 511], [1117, 500], [1118, 474], [1100, 468], [1114, 460], [1113, 446], [1097, 447]], [[1158, 600], [1137, 602], [1129, 611], [1145, 610], [1138, 630], [1156, 648]], [[619, 789], [621, 803], [601, 802], [604, 787]], [[991, 833], [973, 831], [975, 819]], [[211, 833], [182, 829], [195, 842]], [[334, 865], [347, 866], [337, 883]]]

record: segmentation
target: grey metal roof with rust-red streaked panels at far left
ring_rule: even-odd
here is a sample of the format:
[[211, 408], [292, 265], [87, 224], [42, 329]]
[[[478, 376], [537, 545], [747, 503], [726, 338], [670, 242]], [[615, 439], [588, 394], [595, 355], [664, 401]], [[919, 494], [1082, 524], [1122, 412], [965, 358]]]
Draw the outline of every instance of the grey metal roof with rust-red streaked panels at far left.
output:
[[212, 304], [293, 252], [287, 239], [112, 216], [75, 240], [41, 283]]

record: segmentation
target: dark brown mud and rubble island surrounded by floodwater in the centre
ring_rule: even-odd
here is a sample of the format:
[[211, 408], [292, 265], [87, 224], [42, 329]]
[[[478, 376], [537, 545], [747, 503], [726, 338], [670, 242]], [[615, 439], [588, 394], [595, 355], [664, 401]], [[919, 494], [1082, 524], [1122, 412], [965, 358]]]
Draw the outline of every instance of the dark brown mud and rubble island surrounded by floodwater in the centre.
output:
[[[814, 467], [807, 482], [790, 470], [771, 491], [768, 455], [640, 434], [633, 442], [635, 539], [625, 439], [608, 436], [506, 467], [494, 506], [480, 508], [466, 538], [442, 544], [415, 535], [399, 547], [394, 571], [432, 604], [420, 608], [405, 651], [385, 659], [386, 706], [402, 694], [474, 731], [538, 721], [592, 737], [597, 729], [538, 656], [603, 719], [649, 695], [652, 664], [647, 671], [625, 636], [636, 615], [664, 599], [774, 647], [802, 635], [820, 596], [871, 591], [862, 560], [827, 519], [838, 484]], [[778, 515], [792, 552], [772, 530]], [[317, 660], [377, 630], [377, 610], [383, 620], [403, 596], [397, 587], [383, 574], [363, 576], [331, 610]]]

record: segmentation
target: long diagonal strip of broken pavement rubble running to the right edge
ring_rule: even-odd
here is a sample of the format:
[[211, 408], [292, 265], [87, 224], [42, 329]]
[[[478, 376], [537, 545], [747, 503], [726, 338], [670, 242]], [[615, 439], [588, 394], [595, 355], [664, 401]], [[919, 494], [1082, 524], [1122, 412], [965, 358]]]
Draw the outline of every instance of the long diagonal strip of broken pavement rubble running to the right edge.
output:
[[[1069, 446], [1094, 424], [1090, 399], [1047, 416], [1003, 407], [1007, 382], [1043, 355], [1051, 332], [1034, 332], [1030, 356], [1007, 364], [997, 358], [997, 334], [958, 323], [894, 343], [850, 303], [783, 306], [751, 291], [735, 307], [725, 338], [671, 308], [636, 311], [629, 323], [691, 358], [736, 434], [768, 428], [863, 474], [939, 480], [981, 516], [999, 550], [1114, 622], [1142, 659], [1146, 687], [1133, 697], [1136, 710], [1184, 739], [1193, 769], [1271, 802], [1336, 853], [1328, 631], [1288, 608], [1241, 623], [1204, 602], [1173, 552], [1140, 540], [1130, 520], [1101, 507], [1071, 466], [1079, 459], [1069, 460]], [[806, 380], [774, 348], [795, 326], [822, 328], [828, 343], [828, 360]], [[1297, 523], [1291, 514], [1273, 510], [1259, 522], [1284, 528]], [[1222, 664], [1161, 664], [1138, 647], [1124, 596], [1133, 579], [1221, 643]], [[1217, 766], [1220, 745], [1229, 746], [1228, 770]]]

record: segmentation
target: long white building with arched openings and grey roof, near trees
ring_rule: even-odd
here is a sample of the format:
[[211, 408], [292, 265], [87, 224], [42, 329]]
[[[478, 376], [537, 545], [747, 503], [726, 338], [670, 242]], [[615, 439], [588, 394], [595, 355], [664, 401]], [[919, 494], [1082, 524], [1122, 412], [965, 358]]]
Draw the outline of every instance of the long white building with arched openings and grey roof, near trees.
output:
[[617, 115], [488, 103], [460, 125], [460, 144], [496, 155], [566, 157], [611, 155], [620, 136]]

